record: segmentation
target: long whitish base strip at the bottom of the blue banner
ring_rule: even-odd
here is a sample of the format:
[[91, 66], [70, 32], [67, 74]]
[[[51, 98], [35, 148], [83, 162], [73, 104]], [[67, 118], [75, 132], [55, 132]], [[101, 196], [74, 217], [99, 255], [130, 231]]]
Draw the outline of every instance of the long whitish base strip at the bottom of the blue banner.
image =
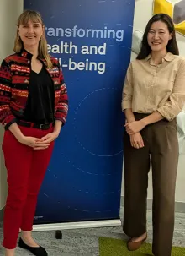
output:
[[33, 231], [56, 231], [65, 229], [77, 228], [92, 228], [92, 227], [108, 227], [121, 226], [121, 220], [107, 220], [107, 221], [79, 221], [68, 223], [53, 223], [53, 224], [38, 224], [33, 226]]

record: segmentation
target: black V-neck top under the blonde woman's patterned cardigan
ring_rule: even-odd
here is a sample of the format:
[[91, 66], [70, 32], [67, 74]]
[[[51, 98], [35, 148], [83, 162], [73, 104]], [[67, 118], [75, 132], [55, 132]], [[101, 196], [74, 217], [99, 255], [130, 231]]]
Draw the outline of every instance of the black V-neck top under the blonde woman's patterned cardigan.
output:
[[24, 120], [33, 123], [54, 122], [54, 84], [43, 66], [37, 74], [31, 70], [29, 97], [24, 110]]

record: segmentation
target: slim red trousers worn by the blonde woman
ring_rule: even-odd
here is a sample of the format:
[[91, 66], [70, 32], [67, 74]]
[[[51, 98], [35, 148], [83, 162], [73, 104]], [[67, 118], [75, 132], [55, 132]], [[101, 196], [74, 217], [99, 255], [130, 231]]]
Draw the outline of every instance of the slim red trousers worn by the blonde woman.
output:
[[[25, 136], [36, 138], [53, 131], [53, 128], [19, 128]], [[54, 142], [45, 150], [33, 150], [20, 144], [9, 130], [4, 133], [3, 154], [8, 171], [8, 198], [3, 221], [4, 248], [16, 248], [19, 229], [32, 230], [37, 196], [50, 162], [53, 146]]]

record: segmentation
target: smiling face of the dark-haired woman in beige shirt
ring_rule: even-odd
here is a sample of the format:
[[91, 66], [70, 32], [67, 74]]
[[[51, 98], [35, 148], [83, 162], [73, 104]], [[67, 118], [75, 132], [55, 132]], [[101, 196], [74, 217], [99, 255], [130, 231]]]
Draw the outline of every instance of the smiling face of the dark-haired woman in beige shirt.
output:
[[172, 39], [172, 33], [169, 32], [165, 22], [156, 21], [151, 25], [147, 35], [148, 44], [153, 52], [166, 50], [168, 41]]

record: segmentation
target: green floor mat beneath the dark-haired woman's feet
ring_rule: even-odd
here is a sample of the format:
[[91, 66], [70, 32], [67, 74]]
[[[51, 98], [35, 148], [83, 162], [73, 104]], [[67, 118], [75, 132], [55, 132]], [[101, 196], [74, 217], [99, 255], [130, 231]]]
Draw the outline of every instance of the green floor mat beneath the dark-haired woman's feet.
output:
[[[151, 256], [151, 244], [144, 243], [139, 250], [129, 252], [126, 242], [119, 239], [99, 237], [99, 255], [100, 256]], [[172, 256], [185, 255], [185, 248], [172, 248]]]

